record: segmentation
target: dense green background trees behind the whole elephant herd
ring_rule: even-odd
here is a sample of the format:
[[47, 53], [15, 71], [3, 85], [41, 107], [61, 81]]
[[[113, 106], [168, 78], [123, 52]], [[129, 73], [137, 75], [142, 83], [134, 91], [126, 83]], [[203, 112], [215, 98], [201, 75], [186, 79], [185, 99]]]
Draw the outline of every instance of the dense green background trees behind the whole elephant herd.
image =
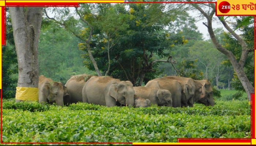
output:
[[[180, 6], [85, 3], [76, 10], [46, 8], [48, 18], [43, 19], [38, 44], [39, 74], [63, 83], [70, 75], [96, 75], [93, 57], [101, 75], [130, 80], [135, 86], [175, 75], [208, 79], [216, 88], [244, 91], [229, 59], [215, 49], [211, 40], [203, 40], [195, 18], [183, 11], [187, 7], [176, 9]], [[253, 48], [253, 17], [233, 18], [234, 28], [242, 32], [240, 36], [248, 48]], [[7, 46], [3, 47], [2, 56], [12, 59], [3, 57], [3, 89], [13, 91], [18, 68], [10, 24], [7, 23]], [[221, 28], [213, 31], [219, 44], [231, 51], [237, 61], [241, 60], [237, 39]], [[254, 76], [248, 76], [254, 75], [252, 52], [246, 57], [244, 70], [253, 85]]]

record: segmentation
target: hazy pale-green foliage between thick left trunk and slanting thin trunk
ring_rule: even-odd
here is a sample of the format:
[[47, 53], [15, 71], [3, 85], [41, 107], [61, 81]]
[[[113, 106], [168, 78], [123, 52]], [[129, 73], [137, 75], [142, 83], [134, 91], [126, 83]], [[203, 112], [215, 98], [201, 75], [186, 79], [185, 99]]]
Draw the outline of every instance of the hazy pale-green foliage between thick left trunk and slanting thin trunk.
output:
[[39, 75], [65, 84], [70, 75], [94, 74], [83, 67], [78, 38], [54, 23], [43, 28], [38, 45]]

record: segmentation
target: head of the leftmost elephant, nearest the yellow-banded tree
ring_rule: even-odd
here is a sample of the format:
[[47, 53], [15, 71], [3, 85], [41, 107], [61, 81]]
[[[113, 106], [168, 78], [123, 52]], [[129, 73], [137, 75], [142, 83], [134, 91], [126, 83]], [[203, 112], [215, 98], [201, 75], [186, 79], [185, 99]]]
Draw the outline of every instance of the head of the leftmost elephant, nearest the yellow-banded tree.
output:
[[[46, 97], [46, 101], [48, 100], [50, 103], [56, 103], [57, 105], [63, 106], [63, 98], [69, 98], [67, 87], [63, 86], [61, 82], [46, 82], [42, 85], [41, 92], [44, 97]], [[44, 98], [41, 97], [41, 98]], [[44, 99], [40, 99], [39, 101]]]

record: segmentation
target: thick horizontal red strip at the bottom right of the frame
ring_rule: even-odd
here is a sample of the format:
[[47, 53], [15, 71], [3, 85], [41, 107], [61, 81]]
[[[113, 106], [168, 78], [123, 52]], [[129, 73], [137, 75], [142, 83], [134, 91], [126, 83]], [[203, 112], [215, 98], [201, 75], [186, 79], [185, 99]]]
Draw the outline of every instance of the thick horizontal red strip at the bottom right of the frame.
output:
[[226, 142], [229, 142], [229, 143], [234, 143], [234, 142], [246, 142], [246, 143], [251, 143], [251, 139], [230, 139], [230, 138], [227, 138], [227, 139], [221, 139], [221, 138], [218, 138], [218, 139], [207, 139], [207, 138], [203, 138], [203, 139], [199, 139], [199, 138], [195, 138], [195, 139], [191, 139], [191, 138], [178, 138], [177, 139], [177, 142], [196, 142], [196, 143], [200, 143], [200, 142], [223, 142], [223, 143], [226, 143]]

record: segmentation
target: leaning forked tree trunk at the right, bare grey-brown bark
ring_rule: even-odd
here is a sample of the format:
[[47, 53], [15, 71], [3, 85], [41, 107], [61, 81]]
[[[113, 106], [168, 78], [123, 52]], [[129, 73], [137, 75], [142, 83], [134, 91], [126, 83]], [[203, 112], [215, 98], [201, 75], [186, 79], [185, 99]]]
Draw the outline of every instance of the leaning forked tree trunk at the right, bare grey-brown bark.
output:
[[[187, 2], [192, 2], [191, 0], [186, 0]], [[209, 2], [212, 2], [210, 0]], [[200, 13], [203, 15], [204, 18], [206, 18], [207, 23], [203, 23], [207, 29], [208, 33], [210, 35], [210, 38], [214, 44], [214, 46], [219, 50], [221, 53], [225, 54], [229, 61], [231, 62], [232, 66], [234, 67], [234, 70], [237, 74], [237, 77], [242, 83], [242, 86], [244, 87], [248, 100], [251, 101], [251, 93], [254, 93], [254, 87], [251, 84], [251, 82], [248, 80], [248, 77], [245, 74], [244, 71], [244, 65], [246, 62], [246, 58], [248, 57], [248, 54], [250, 52], [253, 52], [253, 47], [251, 45], [248, 45], [245, 41], [245, 39], [241, 36], [239, 36], [234, 29], [232, 29], [226, 20], [222, 16], [217, 16], [217, 19], [223, 24], [223, 26], [226, 28], [226, 30], [240, 43], [241, 45], [241, 55], [239, 57], [239, 60], [237, 60], [236, 55], [230, 50], [227, 50], [225, 47], [223, 47], [218, 39], [215, 36], [215, 33], [212, 28], [212, 21], [213, 16], [215, 15], [215, 4], [214, 3], [190, 3], [190, 5], [193, 6], [193, 8], [200, 11]]]

